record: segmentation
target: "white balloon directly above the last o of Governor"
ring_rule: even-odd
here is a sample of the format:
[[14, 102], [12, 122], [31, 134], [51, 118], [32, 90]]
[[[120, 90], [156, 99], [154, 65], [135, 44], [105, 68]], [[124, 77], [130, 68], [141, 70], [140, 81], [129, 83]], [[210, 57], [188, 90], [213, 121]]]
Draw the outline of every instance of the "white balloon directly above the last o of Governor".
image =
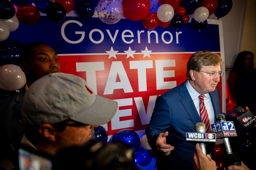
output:
[[157, 17], [162, 22], [169, 22], [174, 16], [173, 7], [169, 4], [162, 4], [157, 9]]

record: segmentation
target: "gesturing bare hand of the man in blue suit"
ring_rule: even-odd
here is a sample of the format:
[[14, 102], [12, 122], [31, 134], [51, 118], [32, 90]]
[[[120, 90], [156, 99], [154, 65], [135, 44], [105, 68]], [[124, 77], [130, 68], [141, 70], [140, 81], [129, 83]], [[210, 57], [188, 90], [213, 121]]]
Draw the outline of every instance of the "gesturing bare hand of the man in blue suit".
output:
[[161, 133], [157, 138], [157, 143], [155, 144], [155, 146], [157, 146], [157, 151], [161, 155], [169, 155], [170, 152], [174, 149], [174, 147], [170, 144], [166, 144], [165, 136], [168, 136], [168, 132]]

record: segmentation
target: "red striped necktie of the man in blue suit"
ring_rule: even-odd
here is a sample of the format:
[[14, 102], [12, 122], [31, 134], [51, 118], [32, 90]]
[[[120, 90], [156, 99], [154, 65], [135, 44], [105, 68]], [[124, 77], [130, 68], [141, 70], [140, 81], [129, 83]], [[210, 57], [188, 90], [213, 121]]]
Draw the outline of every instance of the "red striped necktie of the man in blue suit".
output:
[[200, 101], [200, 116], [201, 116], [202, 123], [205, 124], [206, 133], [211, 133], [210, 120], [208, 117], [206, 107], [204, 105], [204, 96], [203, 95], [199, 96], [199, 101]]

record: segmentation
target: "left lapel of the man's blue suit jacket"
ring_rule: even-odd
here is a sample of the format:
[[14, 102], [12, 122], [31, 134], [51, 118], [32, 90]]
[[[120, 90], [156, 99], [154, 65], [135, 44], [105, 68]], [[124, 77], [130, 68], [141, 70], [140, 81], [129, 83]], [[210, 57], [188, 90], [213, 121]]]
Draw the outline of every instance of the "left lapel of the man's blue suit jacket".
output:
[[197, 113], [195, 104], [188, 92], [185, 82], [180, 85], [180, 95], [183, 96], [180, 100], [184, 108], [186, 109], [190, 119], [194, 124], [201, 122], [201, 118]]

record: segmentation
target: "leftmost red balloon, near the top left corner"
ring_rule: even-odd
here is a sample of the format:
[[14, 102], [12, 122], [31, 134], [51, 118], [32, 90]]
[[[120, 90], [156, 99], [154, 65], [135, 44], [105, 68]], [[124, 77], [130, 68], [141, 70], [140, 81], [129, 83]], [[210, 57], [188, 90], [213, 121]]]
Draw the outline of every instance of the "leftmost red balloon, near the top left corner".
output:
[[16, 9], [16, 16], [21, 22], [28, 25], [33, 25], [40, 19], [40, 13], [38, 9], [30, 4], [20, 5]]

